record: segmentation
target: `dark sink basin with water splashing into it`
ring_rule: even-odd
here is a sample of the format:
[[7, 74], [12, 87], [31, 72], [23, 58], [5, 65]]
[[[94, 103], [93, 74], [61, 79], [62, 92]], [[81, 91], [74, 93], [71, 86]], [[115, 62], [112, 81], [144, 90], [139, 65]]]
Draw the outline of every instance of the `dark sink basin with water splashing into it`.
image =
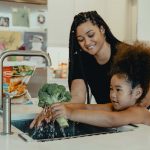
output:
[[21, 130], [19, 134], [25, 141], [53, 141], [69, 138], [77, 138], [83, 136], [92, 136], [97, 134], [110, 134], [126, 131], [133, 131], [136, 126], [128, 125], [119, 128], [102, 128], [91, 126], [83, 123], [68, 121], [69, 127], [60, 128], [57, 122], [43, 122], [38, 128], [29, 129], [32, 119], [13, 120], [12, 125]]

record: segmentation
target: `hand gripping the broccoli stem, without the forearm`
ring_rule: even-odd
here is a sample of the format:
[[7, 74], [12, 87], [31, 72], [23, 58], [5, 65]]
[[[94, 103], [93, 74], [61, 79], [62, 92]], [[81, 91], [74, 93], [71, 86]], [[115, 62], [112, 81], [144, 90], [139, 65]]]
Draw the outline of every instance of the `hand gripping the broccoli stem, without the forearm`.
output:
[[67, 107], [63, 103], [55, 103], [51, 106], [53, 120], [56, 120], [59, 117], [64, 117], [66, 119], [70, 118], [72, 109]]

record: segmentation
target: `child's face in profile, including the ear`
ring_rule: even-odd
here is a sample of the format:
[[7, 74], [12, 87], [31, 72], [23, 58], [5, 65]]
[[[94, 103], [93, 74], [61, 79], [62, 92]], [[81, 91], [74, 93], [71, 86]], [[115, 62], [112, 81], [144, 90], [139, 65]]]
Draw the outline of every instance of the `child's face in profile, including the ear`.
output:
[[136, 103], [136, 88], [125, 76], [113, 75], [110, 83], [110, 99], [115, 110], [126, 109]]

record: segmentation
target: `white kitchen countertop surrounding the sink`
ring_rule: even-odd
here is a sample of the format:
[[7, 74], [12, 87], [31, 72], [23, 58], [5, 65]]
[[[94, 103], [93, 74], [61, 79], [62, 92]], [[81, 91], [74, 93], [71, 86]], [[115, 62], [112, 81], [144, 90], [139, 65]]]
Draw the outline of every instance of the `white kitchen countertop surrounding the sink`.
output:
[[[34, 117], [41, 108], [34, 105], [13, 105], [12, 119]], [[0, 132], [2, 132], [0, 116]], [[20, 130], [12, 126], [11, 135], [0, 135], [0, 150], [148, 150], [150, 149], [150, 126], [138, 125], [134, 131], [101, 134], [88, 137], [47, 142], [25, 142], [18, 136]]]

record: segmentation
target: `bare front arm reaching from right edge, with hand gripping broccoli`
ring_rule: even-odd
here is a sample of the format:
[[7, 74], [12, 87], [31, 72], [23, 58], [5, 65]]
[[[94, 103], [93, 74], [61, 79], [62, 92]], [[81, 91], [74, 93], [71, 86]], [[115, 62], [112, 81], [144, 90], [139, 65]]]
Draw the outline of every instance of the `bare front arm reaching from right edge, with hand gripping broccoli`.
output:
[[65, 107], [65, 109], [60, 109], [61, 107], [59, 109], [56, 108], [52, 108], [54, 119], [63, 116], [72, 121], [99, 127], [118, 127], [130, 123], [150, 125], [150, 112], [144, 107], [134, 106], [119, 112], [105, 110], [77, 110], [69, 107]]

